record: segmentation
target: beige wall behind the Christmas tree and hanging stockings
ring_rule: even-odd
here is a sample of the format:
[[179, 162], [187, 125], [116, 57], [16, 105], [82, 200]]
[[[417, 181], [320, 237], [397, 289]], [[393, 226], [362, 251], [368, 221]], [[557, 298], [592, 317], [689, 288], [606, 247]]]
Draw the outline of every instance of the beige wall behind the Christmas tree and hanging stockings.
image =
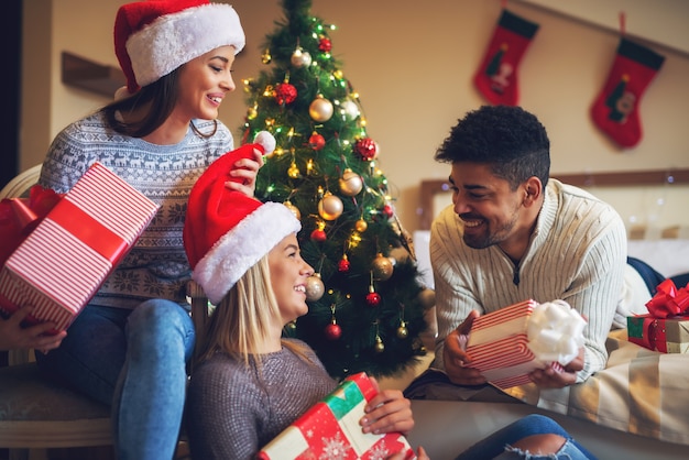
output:
[[[59, 53], [65, 50], [117, 65], [112, 22], [123, 1], [24, 3], [31, 10], [46, 1], [53, 8], [52, 35], [44, 42], [51, 51], [50, 72], [25, 75], [23, 91], [50, 85], [51, 95], [45, 103], [24, 107], [22, 122], [30, 124], [41, 118], [36, 112], [48, 108], [50, 136], [32, 139], [32, 150], [22, 150], [22, 167], [42, 160], [50, 140], [62, 127], [106, 101], [62, 85]], [[261, 45], [274, 21], [282, 18], [282, 10], [278, 0], [231, 3], [242, 18], [248, 37], [234, 72], [241, 86], [242, 78], [255, 76], [263, 66]], [[449, 173], [447, 165], [433, 161], [436, 147], [458, 118], [485, 103], [471, 78], [492, 36], [501, 4], [500, 0], [313, 1], [311, 12], [338, 28], [331, 34], [332, 52], [360, 94], [369, 134], [381, 145], [380, 166], [397, 198], [402, 223], [409, 231], [416, 229], [419, 180]], [[665, 3], [653, 4], [664, 8]], [[666, 61], [641, 101], [643, 139], [636, 147], [622, 151], [589, 117], [589, 108], [613, 63], [619, 33], [529, 3], [512, 1], [507, 8], [540, 24], [518, 69], [520, 92], [522, 106], [536, 113], [548, 129], [553, 173], [689, 167], [689, 55], [647, 44]], [[677, 14], [687, 15], [686, 10]], [[31, 19], [29, 11], [24, 19], [29, 31]], [[689, 18], [682, 21], [689, 23]], [[24, 58], [31, 58], [31, 53], [26, 50]], [[236, 133], [245, 113], [243, 97], [240, 87], [226, 99], [221, 112], [221, 119]]]

